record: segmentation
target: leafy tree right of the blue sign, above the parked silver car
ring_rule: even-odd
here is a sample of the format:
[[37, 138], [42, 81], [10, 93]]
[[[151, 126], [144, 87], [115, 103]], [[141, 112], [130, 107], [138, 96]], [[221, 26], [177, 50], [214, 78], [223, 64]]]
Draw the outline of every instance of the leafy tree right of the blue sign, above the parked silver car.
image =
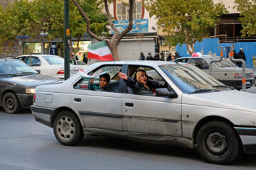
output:
[[223, 4], [212, 0], [149, 0], [145, 7], [158, 18], [157, 25], [167, 34], [167, 45], [186, 43], [191, 55], [194, 43], [208, 36], [208, 28], [214, 28], [227, 12]]

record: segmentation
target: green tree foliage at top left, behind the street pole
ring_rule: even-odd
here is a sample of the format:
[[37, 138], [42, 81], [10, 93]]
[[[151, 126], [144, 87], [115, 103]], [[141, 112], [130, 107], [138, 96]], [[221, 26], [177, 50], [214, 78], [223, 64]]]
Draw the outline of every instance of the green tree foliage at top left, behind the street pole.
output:
[[[91, 18], [92, 30], [98, 35], [108, 31], [107, 16], [102, 13], [102, 2], [80, 0], [85, 13]], [[0, 6], [0, 39], [18, 41], [17, 36], [27, 36], [29, 40], [63, 38], [63, 0], [15, 0], [13, 4]], [[85, 20], [70, 1], [70, 35], [80, 38], [86, 32]], [[46, 36], [38, 36], [48, 33]]]

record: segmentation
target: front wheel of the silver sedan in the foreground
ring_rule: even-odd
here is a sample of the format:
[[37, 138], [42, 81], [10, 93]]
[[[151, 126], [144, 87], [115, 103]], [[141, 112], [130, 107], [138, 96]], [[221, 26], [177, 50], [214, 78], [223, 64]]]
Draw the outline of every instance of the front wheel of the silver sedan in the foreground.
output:
[[213, 121], [206, 123], [196, 136], [197, 149], [201, 157], [213, 164], [229, 164], [239, 154], [238, 135], [230, 125]]

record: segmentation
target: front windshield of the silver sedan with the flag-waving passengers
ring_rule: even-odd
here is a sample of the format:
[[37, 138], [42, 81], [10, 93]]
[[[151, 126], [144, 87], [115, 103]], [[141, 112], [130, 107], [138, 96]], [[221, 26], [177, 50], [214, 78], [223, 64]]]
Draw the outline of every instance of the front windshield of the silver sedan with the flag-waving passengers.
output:
[[186, 94], [220, 91], [228, 87], [191, 64], [168, 64], [160, 68]]

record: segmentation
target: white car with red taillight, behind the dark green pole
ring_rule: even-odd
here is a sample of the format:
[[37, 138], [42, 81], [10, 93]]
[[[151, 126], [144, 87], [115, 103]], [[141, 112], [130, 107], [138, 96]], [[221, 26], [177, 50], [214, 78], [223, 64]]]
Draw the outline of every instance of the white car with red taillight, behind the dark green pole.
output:
[[[64, 79], [64, 58], [58, 55], [21, 55], [17, 57], [29, 66], [52, 77]], [[87, 67], [87, 65], [70, 64], [70, 76], [73, 76], [78, 69]]]

